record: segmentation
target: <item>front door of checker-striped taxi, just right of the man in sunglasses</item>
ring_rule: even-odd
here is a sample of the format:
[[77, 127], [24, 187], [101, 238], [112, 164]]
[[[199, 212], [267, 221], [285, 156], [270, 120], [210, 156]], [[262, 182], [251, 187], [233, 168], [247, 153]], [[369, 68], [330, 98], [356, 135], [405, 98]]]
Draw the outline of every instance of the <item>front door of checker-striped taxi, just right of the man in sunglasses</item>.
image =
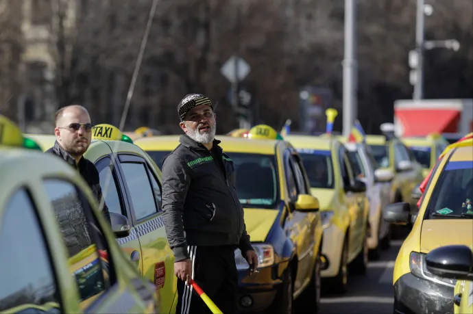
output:
[[130, 235], [117, 239], [130, 261], [135, 265], [140, 274], [143, 273], [143, 259], [141, 244], [136, 232], [136, 225], [132, 223], [130, 214], [130, 200], [125, 193], [123, 181], [119, 180], [119, 173], [113, 155], [106, 155], [95, 161], [95, 168], [99, 172], [102, 195], [110, 213], [119, 213], [128, 218], [131, 224]]

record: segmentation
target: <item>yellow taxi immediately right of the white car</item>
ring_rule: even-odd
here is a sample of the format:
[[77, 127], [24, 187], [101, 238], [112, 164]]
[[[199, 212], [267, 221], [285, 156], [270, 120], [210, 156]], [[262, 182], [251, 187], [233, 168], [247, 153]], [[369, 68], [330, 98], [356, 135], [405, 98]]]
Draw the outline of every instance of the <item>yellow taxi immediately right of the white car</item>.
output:
[[391, 202], [409, 202], [416, 209], [412, 192], [422, 182], [422, 166], [415, 160], [411, 151], [398, 138], [387, 135], [367, 135], [369, 145], [378, 167], [391, 170], [394, 179], [391, 181]]

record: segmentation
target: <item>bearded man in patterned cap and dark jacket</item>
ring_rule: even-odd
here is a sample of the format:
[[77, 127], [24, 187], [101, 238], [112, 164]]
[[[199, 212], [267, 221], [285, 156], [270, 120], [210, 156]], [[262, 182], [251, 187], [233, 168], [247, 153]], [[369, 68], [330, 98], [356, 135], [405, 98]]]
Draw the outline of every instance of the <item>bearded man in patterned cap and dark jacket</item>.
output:
[[178, 105], [185, 135], [162, 164], [162, 218], [178, 277], [178, 313], [211, 313], [192, 280], [223, 311], [237, 307], [239, 248], [252, 274], [258, 257], [246, 233], [235, 187], [235, 166], [215, 140], [215, 113], [208, 97], [188, 94]]

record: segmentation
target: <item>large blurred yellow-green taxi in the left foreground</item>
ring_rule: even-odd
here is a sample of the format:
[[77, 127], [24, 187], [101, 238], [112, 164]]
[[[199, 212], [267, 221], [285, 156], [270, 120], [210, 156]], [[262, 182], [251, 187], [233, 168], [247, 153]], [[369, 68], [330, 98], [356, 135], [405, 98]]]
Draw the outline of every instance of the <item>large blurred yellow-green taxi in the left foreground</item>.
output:
[[[25, 149], [34, 148], [34, 149]], [[111, 214], [71, 166], [0, 116], [0, 313], [156, 313], [156, 288], [128, 262]]]

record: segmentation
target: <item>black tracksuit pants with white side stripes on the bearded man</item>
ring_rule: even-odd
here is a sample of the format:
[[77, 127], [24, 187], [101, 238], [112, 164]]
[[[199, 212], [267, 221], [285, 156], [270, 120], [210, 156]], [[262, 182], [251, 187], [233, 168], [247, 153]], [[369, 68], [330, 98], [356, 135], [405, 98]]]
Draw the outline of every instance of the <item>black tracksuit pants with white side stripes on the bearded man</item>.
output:
[[[238, 273], [234, 246], [189, 246], [192, 278], [224, 313], [236, 312]], [[178, 278], [176, 313], [212, 313], [191, 285]]]

